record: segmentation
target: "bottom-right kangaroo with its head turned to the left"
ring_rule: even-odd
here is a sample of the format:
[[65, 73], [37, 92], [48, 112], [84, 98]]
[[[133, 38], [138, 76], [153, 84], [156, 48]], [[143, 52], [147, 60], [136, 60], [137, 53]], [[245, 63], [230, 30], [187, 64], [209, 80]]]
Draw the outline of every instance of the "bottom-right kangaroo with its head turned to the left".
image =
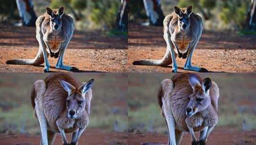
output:
[[[206, 145], [218, 122], [219, 96], [217, 84], [199, 74], [178, 73], [163, 80], [157, 98], [168, 128], [167, 145], [180, 145], [184, 132], [190, 132], [192, 145]], [[200, 131], [199, 141], [195, 131]]]

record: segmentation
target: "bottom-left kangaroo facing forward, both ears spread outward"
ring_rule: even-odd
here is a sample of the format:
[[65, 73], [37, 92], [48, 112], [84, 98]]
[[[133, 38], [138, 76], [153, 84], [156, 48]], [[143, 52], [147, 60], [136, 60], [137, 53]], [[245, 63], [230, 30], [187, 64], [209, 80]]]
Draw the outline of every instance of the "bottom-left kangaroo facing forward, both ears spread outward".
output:
[[[63, 145], [77, 145], [89, 124], [91, 87], [68, 73], [53, 73], [33, 84], [31, 102], [41, 130], [41, 145], [53, 145], [60, 133]], [[70, 144], [65, 133], [72, 133]]]

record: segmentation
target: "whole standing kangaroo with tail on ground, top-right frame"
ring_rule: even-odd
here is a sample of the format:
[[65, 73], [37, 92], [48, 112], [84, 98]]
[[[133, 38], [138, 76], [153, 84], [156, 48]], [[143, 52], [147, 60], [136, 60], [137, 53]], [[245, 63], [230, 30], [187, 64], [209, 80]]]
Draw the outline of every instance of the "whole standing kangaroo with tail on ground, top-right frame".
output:
[[167, 50], [161, 60], [139, 60], [134, 65], [158, 65], [167, 66], [172, 63], [172, 72], [177, 72], [176, 57], [186, 59], [184, 70], [196, 72], [208, 72], [204, 68], [191, 65], [193, 52], [202, 34], [202, 18], [192, 11], [193, 7], [174, 7], [174, 12], [164, 19], [164, 40]]

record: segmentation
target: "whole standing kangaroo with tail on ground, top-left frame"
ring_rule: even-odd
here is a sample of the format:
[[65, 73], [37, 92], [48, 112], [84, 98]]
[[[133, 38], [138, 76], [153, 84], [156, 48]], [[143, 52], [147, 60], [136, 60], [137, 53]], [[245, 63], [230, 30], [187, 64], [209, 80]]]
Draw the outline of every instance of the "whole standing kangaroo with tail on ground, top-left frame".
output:
[[[39, 50], [34, 59], [13, 59], [7, 64], [40, 65], [45, 62], [44, 72], [49, 72], [48, 56], [58, 58], [56, 69], [79, 71], [75, 67], [63, 65], [63, 57], [67, 45], [73, 35], [74, 21], [72, 16], [64, 13], [64, 7], [59, 9], [46, 8], [44, 15], [37, 18], [36, 40]], [[59, 56], [60, 55], [60, 56]]]

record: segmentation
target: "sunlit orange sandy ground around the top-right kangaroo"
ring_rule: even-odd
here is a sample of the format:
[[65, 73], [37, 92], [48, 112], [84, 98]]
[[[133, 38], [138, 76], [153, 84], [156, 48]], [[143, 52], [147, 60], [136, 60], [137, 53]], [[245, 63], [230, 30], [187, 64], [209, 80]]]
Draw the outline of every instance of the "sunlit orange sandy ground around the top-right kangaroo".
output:
[[[138, 66], [139, 59], [161, 59], [166, 51], [162, 27], [129, 24], [128, 71], [171, 72], [172, 66]], [[177, 57], [178, 72], [184, 59]], [[203, 31], [194, 51], [192, 64], [211, 72], [256, 72], [256, 36], [237, 36], [234, 32]]]

